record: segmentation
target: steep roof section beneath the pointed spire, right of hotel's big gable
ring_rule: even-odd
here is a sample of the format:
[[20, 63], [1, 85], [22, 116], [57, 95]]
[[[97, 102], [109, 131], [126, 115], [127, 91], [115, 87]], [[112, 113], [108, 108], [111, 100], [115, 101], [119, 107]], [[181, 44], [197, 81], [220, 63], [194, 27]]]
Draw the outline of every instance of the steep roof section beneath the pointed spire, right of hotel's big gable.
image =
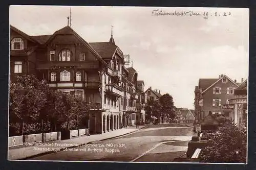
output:
[[103, 59], [111, 59], [117, 48], [112, 42], [90, 42], [89, 44]]

